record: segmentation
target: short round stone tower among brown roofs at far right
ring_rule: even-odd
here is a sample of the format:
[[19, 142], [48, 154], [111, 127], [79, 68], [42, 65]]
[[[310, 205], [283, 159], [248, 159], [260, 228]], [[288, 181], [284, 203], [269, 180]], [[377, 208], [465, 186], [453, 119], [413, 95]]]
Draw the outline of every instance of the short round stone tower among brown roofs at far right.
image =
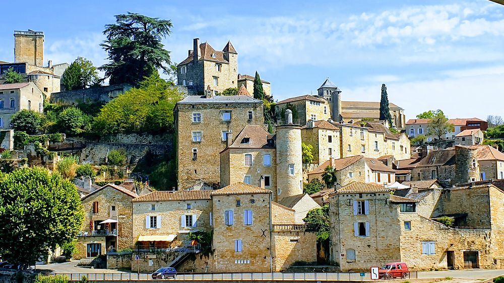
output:
[[479, 181], [477, 149], [467, 146], [455, 146], [455, 180], [452, 183]]

